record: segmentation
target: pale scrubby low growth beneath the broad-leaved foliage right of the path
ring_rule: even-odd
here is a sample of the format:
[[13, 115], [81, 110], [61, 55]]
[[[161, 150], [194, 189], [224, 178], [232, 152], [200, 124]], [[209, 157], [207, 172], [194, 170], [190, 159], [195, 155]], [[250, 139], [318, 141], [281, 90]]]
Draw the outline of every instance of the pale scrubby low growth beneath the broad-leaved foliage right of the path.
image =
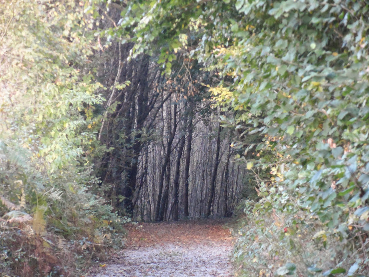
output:
[[[362, 234], [332, 230], [318, 216], [298, 209], [292, 199], [288, 212], [278, 202], [262, 199], [244, 202], [234, 259], [242, 276], [331, 276], [347, 272], [359, 275], [367, 247]], [[279, 202], [281, 204], [281, 202]], [[342, 230], [341, 230], [342, 231]], [[361, 236], [361, 238], [360, 238]], [[362, 274], [363, 268], [360, 269]]]

